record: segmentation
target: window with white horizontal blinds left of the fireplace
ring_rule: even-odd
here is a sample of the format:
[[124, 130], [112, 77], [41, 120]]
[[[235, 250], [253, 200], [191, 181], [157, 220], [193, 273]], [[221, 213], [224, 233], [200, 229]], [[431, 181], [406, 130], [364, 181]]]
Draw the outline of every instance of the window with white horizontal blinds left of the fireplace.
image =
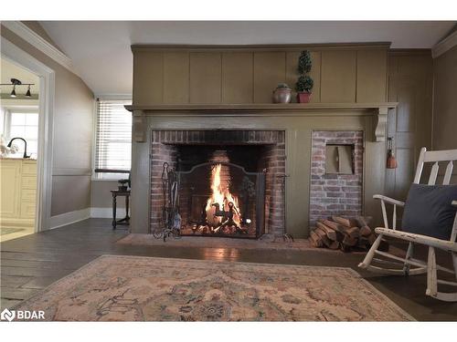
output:
[[[123, 106], [132, 101], [98, 100], [95, 169], [130, 171], [132, 115]], [[97, 179], [127, 178], [116, 172], [97, 172]]]

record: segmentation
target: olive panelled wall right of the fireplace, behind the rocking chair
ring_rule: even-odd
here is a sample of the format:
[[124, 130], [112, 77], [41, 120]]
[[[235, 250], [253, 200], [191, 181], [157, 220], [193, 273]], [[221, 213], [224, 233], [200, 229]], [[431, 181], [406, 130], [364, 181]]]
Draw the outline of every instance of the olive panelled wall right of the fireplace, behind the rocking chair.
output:
[[388, 136], [395, 140], [399, 167], [386, 171], [386, 193], [405, 200], [420, 148], [431, 147], [432, 59], [430, 50], [391, 50], [388, 100], [399, 102], [388, 115]]

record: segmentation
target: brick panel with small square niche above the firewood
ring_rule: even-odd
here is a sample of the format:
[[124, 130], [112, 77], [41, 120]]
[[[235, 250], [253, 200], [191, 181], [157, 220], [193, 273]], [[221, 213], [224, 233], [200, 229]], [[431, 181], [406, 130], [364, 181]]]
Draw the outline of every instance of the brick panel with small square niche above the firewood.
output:
[[[314, 130], [311, 153], [310, 225], [330, 215], [356, 216], [362, 213], [363, 131]], [[329, 149], [333, 147], [334, 149]], [[350, 152], [351, 166], [347, 166]], [[336, 149], [336, 150], [335, 150]], [[332, 152], [330, 152], [332, 151]], [[328, 155], [331, 154], [331, 155]], [[328, 159], [335, 159], [329, 162]], [[329, 165], [345, 161], [345, 169]]]

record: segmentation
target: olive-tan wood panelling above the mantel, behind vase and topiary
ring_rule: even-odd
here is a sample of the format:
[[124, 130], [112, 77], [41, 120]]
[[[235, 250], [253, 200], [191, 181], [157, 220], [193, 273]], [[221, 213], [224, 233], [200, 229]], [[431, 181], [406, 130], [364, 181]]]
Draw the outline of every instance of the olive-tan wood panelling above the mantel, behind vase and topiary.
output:
[[133, 46], [133, 105], [271, 103], [291, 88], [300, 51], [312, 51], [312, 102], [386, 99], [388, 45], [302, 47]]

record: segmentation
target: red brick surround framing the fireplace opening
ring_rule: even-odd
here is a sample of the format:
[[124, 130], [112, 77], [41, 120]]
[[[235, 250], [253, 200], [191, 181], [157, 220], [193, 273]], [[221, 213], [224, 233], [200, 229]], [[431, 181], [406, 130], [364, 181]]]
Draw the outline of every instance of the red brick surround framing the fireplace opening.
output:
[[[266, 169], [265, 233], [284, 233], [285, 132], [282, 130], [153, 130], [151, 150], [151, 226], [162, 229], [164, 206], [161, 175], [167, 161], [176, 168], [180, 145], [264, 145], [259, 171]], [[217, 147], [216, 147], [217, 146]], [[184, 208], [183, 208], [184, 209]], [[184, 212], [183, 212], [184, 213]], [[185, 213], [186, 214], [186, 213]]]

